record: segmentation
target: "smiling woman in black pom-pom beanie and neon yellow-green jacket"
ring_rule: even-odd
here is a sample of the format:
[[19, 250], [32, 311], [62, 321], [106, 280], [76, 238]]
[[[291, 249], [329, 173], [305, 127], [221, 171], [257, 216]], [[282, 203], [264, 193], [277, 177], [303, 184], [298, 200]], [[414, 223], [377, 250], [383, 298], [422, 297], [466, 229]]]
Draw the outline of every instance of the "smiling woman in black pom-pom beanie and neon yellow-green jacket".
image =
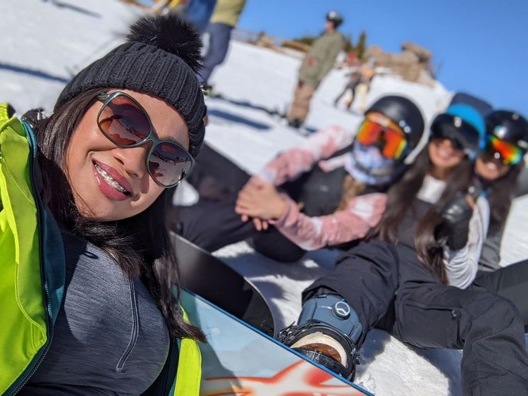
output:
[[180, 351], [174, 394], [198, 394], [204, 335], [179, 307], [164, 219], [204, 140], [200, 48], [178, 18], [142, 18], [49, 118], [0, 108], [0, 393], [162, 395]]

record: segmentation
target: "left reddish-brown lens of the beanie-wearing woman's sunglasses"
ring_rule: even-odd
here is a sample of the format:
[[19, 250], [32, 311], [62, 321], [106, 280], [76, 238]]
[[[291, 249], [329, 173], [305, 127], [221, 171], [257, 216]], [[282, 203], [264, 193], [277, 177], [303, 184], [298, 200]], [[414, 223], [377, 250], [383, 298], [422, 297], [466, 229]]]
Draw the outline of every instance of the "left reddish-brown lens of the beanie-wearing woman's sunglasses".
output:
[[150, 122], [147, 113], [135, 102], [119, 95], [104, 107], [99, 114], [99, 127], [104, 134], [116, 144], [131, 146], [150, 133]]

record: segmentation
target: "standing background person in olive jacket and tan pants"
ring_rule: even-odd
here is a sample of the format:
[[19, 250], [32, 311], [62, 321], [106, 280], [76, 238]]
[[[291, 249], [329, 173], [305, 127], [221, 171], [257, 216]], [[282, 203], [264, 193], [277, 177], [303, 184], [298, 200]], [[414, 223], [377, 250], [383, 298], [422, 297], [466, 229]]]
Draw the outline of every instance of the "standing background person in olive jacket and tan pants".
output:
[[294, 128], [299, 128], [305, 122], [315, 90], [333, 68], [339, 52], [345, 46], [345, 37], [337, 30], [341, 23], [343, 17], [339, 13], [336, 11], [327, 13], [324, 33], [314, 41], [302, 61], [293, 102], [286, 115], [288, 125]]

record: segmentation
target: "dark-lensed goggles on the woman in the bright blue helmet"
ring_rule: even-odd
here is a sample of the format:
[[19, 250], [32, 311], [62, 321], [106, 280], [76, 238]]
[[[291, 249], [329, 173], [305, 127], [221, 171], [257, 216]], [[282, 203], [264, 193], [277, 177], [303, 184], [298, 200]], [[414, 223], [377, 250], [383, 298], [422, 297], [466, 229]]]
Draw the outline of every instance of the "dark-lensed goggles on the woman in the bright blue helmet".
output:
[[464, 151], [472, 159], [477, 156], [480, 147], [479, 131], [460, 117], [441, 114], [431, 125], [431, 138], [448, 139], [455, 149]]

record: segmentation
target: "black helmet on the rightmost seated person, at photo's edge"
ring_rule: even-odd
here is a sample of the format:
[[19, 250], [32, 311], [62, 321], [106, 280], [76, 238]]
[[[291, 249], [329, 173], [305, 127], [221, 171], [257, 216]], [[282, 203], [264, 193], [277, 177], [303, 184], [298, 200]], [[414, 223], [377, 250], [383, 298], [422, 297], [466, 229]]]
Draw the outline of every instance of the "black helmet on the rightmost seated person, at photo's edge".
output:
[[496, 110], [489, 113], [486, 121], [486, 135], [515, 144], [524, 153], [528, 151], [528, 121], [519, 113]]

